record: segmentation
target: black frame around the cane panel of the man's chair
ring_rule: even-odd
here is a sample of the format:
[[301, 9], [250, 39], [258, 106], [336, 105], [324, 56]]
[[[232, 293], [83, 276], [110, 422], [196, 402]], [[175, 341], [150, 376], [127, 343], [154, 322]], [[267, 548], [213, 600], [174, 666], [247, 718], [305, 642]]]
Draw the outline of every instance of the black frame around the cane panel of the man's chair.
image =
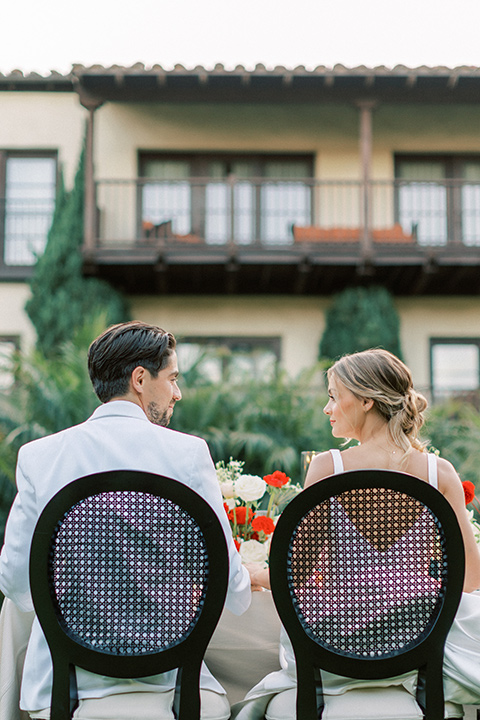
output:
[[[123, 491], [165, 498], [193, 518], [203, 534], [208, 578], [203, 607], [186, 637], [158, 652], [122, 656], [87, 647], [62, 627], [49, 576], [51, 547], [59, 520], [88, 497]], [[217, 515], [198, 493], [171, 478], [130, 470], [95, 473], [74, 480], [50, 500], [37, 522], [30, 554], [30, 585], [35, 613], [53, 662], [51, 720], [70, 718], [78, 703], [75, 666], [118, 678], [145, 677], [178, 668], [177, 715], [180, 720], [198, 720], [201, 663], [222, 613], [228, 587], [225, 534]]]

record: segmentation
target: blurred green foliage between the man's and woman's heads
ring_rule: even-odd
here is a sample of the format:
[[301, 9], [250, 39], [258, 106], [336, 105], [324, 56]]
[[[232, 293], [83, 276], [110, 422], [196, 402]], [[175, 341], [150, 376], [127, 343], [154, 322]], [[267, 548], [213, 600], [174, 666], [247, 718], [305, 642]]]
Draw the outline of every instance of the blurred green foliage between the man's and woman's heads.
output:
[[245, 472], [282, 470], [300, 480], [300, 453], [326, 450], [333, 441], [328, 419], [323, 366], [292, 380], [200, 384], [182, 388], [172, 427], [203, 437], [215, 462], [245, 461]]

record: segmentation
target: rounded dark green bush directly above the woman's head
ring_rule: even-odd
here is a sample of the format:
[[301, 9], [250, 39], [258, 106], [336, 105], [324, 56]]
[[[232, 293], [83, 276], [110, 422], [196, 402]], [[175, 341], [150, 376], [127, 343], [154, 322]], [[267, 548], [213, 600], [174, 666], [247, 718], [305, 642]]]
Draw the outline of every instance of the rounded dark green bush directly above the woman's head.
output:
[[326, 312], [320, 356], [333, 360], [373, 347], [402, 357], [400, 320], [392, 296], [383, 287], [347, 288]]

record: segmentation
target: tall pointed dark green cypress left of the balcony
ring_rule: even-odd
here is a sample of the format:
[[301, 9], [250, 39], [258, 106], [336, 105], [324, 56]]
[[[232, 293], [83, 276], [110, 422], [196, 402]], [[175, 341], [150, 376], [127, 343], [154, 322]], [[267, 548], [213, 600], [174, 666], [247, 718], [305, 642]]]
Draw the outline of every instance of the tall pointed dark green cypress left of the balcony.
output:
[[84, 162], [80, 157], [74, 187], [59, 184], [45, 252], [35, 265], [25, 309], [37, 332], [37, 348], [52, 357], [77, 329], [100, 311], [107, 325], [128, 318], [126, 301], [108, 283], [82, 274]]

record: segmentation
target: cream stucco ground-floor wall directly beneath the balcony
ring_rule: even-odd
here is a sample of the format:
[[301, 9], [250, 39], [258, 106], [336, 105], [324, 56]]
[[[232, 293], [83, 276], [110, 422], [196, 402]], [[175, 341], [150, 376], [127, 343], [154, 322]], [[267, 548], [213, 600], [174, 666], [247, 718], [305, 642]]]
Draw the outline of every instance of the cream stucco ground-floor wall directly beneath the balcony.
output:
[[[292, 375], [318, 357], [328, 298], [178, 297], [133, 300], [134, 316], [175, 335], [276, 336]], [[400, 298], [401, 341], [415, 384], [430, 384], [430, 338], [480, 337], [480, 298]]]

